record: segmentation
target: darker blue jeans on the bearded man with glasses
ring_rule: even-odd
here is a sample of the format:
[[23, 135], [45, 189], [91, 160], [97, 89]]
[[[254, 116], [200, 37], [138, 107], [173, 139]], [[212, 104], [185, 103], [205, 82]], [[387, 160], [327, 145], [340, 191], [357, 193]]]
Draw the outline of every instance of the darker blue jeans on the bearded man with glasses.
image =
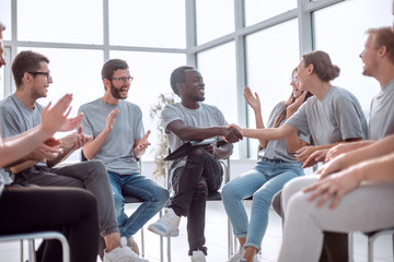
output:
[[[170, 193], [153, 179], [140, 174], [117, 175], [108, 171], [111, 188], [114, 194], [115, 214], [121, 237], [135, 235], [150, 218], [165, 206]], [[130, 217], [125, 214], [123, 195], [138, 196], [144, 202]]]

